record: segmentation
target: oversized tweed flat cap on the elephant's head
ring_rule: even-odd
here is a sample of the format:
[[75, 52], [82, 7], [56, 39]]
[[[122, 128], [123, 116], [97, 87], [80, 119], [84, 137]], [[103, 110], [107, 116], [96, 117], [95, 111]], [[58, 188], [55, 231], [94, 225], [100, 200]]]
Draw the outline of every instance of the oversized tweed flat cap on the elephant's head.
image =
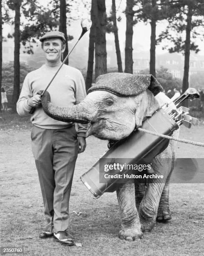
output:
[[108, 73], [96, 78], [96, 83], [88, 89], [108, 91], [117, 96], [135, 96], [149, 89], [154, 96], [163, 91], [161, 84], [151, 74]]

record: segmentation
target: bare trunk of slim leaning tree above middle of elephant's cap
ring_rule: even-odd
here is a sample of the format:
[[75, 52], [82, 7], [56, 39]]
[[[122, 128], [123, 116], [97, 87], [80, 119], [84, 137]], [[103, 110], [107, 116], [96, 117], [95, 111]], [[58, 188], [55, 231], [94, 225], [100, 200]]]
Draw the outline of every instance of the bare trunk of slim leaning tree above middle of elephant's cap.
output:
[[118, 27], [116, 22], [116, 0], [112, 0], [112, 16], [113, 16], [113, 26], [114, 26], [114, 36], [115, 36], [115, 46], [116, 46], [116, 56], [118, 63], [118, 72], [123, 72], [122, 60], [121, 60], [121, 50], [118, 40]]

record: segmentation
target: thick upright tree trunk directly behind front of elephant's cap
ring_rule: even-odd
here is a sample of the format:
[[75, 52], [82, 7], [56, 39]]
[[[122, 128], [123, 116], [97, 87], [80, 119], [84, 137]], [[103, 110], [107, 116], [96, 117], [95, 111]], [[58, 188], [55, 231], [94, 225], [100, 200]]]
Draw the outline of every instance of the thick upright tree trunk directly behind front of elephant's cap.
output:
[[106, 3], [105, 0], [93, 1], [94, 20], [96, 21], [95, 33], [95, 79], [107, 73], [106, 53]]

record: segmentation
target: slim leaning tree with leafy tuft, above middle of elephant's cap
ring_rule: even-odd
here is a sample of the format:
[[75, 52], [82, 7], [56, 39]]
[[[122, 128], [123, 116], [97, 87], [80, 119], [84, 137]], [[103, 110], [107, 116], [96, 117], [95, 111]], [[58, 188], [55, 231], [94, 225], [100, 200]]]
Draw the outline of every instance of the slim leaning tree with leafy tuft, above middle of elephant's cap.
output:
[[[121, 20], [121, 17], [118, 17], [118, 20]], [[120, 44], [119, 44], [119, 39], [118, 39], [118, 27], [117, 27], [117, 19], [116, 19], [116, 1], [115, 0], [112, 0], [112, 11], [111, 11], [110, 17], [108, 17], [107, 32], [114, 33], [118, 72], [123, 72], [122, 60], [121, 60], [121, 50], [120, 50]]]

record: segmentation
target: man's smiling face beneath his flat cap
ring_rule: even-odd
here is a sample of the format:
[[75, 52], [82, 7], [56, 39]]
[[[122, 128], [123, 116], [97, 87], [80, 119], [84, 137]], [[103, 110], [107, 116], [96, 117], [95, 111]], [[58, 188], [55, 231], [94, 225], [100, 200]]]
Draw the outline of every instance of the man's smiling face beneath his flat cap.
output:
[[59, 38], [48, 38], [43, 41], [43, 51], [47, 63], [58, 63], [64, 50], [65, 48]]

